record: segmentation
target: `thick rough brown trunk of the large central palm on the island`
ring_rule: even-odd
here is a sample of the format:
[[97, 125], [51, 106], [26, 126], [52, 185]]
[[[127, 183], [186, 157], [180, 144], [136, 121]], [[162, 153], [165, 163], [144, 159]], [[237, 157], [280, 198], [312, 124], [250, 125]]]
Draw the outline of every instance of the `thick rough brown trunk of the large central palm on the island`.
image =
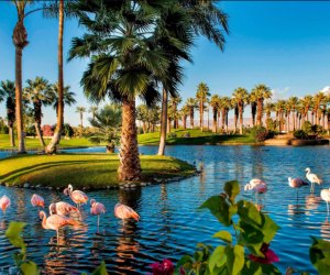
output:
[[118, 169], [120, 180], [139, 180], [141, 178], [135, 116], [135, 100], [124, 99]]

